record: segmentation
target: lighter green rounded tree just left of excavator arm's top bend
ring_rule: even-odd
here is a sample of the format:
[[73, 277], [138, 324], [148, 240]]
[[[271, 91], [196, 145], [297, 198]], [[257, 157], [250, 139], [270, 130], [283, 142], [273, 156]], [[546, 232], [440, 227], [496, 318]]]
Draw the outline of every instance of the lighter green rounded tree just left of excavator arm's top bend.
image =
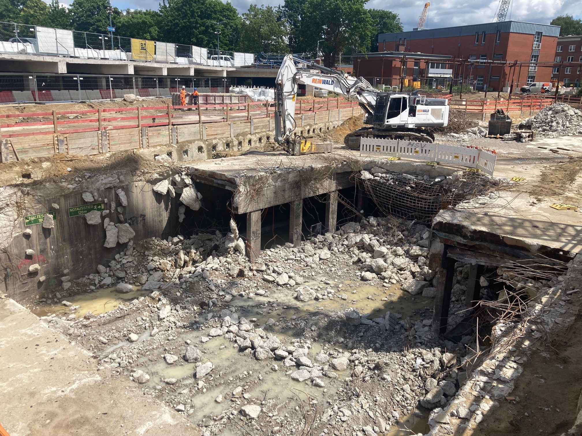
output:
[[285, 28], [277, 18], [272, 6], [261, 5], [259, 8], [251, 4], [249, 12], [243, 13], [240, 24], [240, 49], [250, 53], [287, 53]]

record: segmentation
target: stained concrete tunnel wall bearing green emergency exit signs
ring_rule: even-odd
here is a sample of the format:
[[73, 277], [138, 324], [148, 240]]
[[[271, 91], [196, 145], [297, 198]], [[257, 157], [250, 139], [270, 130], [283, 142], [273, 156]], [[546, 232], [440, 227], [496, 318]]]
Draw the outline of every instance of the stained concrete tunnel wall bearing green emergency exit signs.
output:
[[[118, 195], [115, 193], [118, 188], [123, 188], [127, 196], [127, 206], [123, 208], [125, 220], [120, 221], [117, 210], [108, 213], [107, 217], [116, 224], [122, 222], [130, 224], [136, 233], [134, 242], [153, 236], [168, 238], [175, 234], [178, 227], [178, 201], [175, 198], [153, 192], [150, 183], [127, 183], [97, 190], [101, 199], [107, 198], [107, 207], [112, 201], [115, 202], [116, 208], [120, 206]], [[84, 215], [68, 217], [69, 208], [88, 204], [83, 200], [81, 192], [42, 198], [36, 210], [38, 212], [55, 210], [51, 206], [52, 203], [59, 205], [54, 228], [43, 228], [42, 224], [24, 226], [24, 219], [20, 219], [21, 233], [17, 230], [9, 246], [0, 252], [0, 267], [3, 270], [0, 289], [16, 301], [37, 292], [58, 289], [62, 284], [62, 276], [70, 276], [71, 280], [75, 280], [86, 274], [95, 273], [97, 265], [107, 266], [109, 261], [115, 259], [115, 255], [127, 246], [127, 243], [118, 243], [113, 248], [106, 248], [103, 246], [105, 229], [102, 224], [87, 224]], [[172, 216], [176, 219], [171, 219]], [[105, 216], [102, 216], [101, 221], [104, 219]], [[22, 234], [27, 228], [32, 231], [30, 236]], [[25, 254], [27, 249], [33, 249], [34, 256], [27, 256]], [[38, 273], [28, 273], [29, 266], [34, 263], [38, 263], [41, 270]], [[64, 274], [63, 271], [67, 269], [69, 272]], [[46, 277], [44, 282], [38, 280], [41, 276]]]

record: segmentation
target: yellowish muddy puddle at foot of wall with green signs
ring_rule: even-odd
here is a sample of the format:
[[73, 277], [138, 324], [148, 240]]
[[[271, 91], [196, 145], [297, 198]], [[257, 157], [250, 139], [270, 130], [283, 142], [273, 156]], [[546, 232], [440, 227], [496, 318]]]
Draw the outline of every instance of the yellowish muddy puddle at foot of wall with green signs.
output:
[[141, 287], [137, 286], [133, 286], [133, 291], [127, 292], [127, 294], [121, 294], [114, 287], [102, 288], [95, 292], [63, 298], [62, 300], [72, 303], [73, 306], [80, 306], [80, 308], [74, 310], [74, 312], [72, 312], [70, 308], [63, 306], [60, 301], [39, 305], [32, 309], [32, 312], [37, 316], [49, 316], [53, 313], [57, 316], [65, 316], [74, 313], [77, 318], [85, 316], [87, 312], [91, 312], [93, 315], [100, 315], [101, 313], [117, 309], [120, 304], [129, 303], [130, 301], [139, 298], [140, 296], [146, 296], [149, 293], [150, 291], [142, 291]]

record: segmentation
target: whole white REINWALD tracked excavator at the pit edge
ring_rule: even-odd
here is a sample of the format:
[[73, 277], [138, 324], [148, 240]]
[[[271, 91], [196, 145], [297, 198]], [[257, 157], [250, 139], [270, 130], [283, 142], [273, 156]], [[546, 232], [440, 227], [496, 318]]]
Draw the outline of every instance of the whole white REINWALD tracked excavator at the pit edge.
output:
[[[297, 68], [302, 66], [301, 68]], [[313, 72], [319, 70], [319, 72]], [[360, 138], [433, 142], [428, 127], [446, 126], [448, 100], [427, 98], [417, 92], [380, 92], [362, 77], [287, 55], [275, 79], [275, 141], [290, 155], [303, 154], [307, 139], [294, 133], [295, 103], [299, 84], [336, 92], [359, 103], [364, 110], [362, 127], [345, 137], [347, 148], [360, 149]]]

